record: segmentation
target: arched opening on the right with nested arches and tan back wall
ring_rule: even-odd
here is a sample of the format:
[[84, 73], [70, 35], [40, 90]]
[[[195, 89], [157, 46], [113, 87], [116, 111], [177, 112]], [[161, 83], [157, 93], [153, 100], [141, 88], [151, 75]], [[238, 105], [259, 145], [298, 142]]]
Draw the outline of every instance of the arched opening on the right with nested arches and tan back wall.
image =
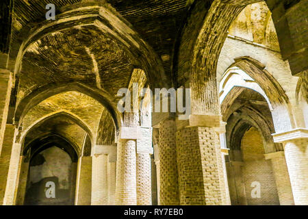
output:
[[249, 88], [235, 88], [234, 92], [231, 90], [222, 103], [227, 104], [231, 94], [235, 96], [223, 115], [231, 205], [279, 205], [277, 170], [266, 155], [283, 151], [283, 147], [272, 140], [274, 125], [268, 101]]

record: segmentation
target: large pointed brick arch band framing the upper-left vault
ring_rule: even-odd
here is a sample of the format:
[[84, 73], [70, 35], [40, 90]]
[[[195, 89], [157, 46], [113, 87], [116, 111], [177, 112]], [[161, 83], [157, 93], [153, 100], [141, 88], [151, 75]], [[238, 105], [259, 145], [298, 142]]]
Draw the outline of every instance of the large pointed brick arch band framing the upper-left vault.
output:
[[79, 3], [70, 7], [64, 7], [61, 14], [57, 14], [55, 21], [43, 21], [36, 25], [35, 29], [29, 27], [22, 31], [31, 31], [23, 40], [16, 54], [14, 75], [21, 70], [21, 61], [29, 46], [48, 34], [74, 27], [94, 25], [102, 34], [115, 39], [130, 57], [138, 57], [146, 72], [150, 84], [153, 86], [166, 87], [166, 75], [162, 61], [155, 51], [147, 44], [139, 34], [133, 30], [132, 25], [106, 3]]

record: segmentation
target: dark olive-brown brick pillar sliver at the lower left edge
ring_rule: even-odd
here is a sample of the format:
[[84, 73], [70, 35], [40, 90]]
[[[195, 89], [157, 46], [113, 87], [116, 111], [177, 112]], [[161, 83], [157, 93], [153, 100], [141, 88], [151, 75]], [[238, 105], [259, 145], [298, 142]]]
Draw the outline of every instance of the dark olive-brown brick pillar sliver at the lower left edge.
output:
[[9, 177], [10, 160], [12, 156], [14, 144], [15, 126], [11, 124], [5, 125], [4, 140], [0, 155], [0, 205], [3, 205], [5, 189]]

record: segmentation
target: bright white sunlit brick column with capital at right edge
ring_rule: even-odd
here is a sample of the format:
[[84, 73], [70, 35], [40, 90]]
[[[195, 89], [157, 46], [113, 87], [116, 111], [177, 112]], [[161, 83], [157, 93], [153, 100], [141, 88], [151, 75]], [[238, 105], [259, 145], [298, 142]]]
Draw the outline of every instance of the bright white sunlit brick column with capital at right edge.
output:
[[308, 129], [273, 136], [274, 142], [283, 142], [295, 205], [308, 205]]

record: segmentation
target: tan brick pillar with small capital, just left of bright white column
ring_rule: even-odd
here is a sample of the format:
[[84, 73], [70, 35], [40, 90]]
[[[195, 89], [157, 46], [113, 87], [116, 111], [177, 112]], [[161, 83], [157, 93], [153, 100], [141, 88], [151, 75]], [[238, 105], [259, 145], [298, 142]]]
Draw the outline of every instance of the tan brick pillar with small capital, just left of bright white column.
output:
[[272, 163], [272, 170], [274, 172], [280, 205], [294, 205], [294, 198], [289, 172], [287, 172], [284, 152], [278, 151], [265, 154], [264, 156], [266, 159], [270, 159]]

